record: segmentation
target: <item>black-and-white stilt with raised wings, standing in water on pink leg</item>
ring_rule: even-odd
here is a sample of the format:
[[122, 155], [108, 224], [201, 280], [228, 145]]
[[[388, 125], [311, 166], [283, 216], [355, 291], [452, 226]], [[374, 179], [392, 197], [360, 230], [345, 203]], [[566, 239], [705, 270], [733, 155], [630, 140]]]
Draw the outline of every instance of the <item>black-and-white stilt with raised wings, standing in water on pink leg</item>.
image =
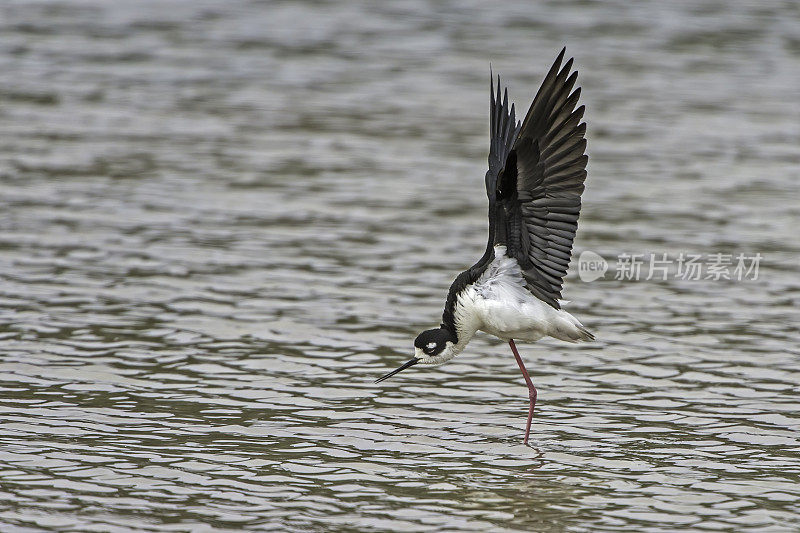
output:
[[531, 430], [536, 388], [517, 352], [514, 339], [536, 341], [550, 336], [577, 342], [594, 337], [561, 309], [561, 285], [567, 273], [578, 228], [586, 179], [584, 106], [577, 109], [578, 73], [564, 52], [544, 78], [520, 124], [508, 89], [500, 96], [490, 80], [491, 142], [486, 193], [489, 196], [489, 242], [477, 263], [450, 286], [441, 327], [423, 331], [414, 341], [414, 358], [376, 380], [421, 364], [440, 364], [461, 352], [480, 330], [508, 341], [528, 385], [530, 409], [525, 444]]

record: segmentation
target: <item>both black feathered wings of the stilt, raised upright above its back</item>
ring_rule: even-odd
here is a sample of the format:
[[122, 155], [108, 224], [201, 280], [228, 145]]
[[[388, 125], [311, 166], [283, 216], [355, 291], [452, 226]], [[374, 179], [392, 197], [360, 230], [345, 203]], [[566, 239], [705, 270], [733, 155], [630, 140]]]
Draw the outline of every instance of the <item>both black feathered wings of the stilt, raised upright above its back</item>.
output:
[[[486, 190], [489, 245], [505, 244], [528, 290], [556, 309], [578, 227], [586, 179], [584, 106], [576, 109], [577, 72], [564, 52], [545, 76], [522, 125], [507, 91], [491, 98], [491, 145]], [[487, 248], [488, 253], [488, 248]]]

